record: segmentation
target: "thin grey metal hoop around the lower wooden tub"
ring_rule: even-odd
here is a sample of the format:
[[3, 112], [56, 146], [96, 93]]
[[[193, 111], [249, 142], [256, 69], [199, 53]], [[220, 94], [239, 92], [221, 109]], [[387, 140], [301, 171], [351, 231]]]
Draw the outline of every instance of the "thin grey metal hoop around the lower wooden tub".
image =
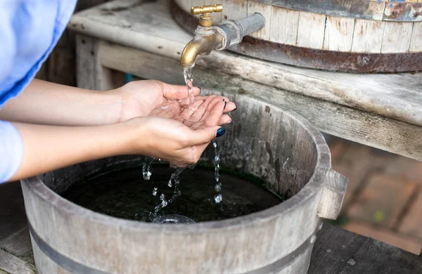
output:
[[[44, 240], [42, 240], [41, 237], [39, 237], [39, 235], [35, 232], [34, 228], [32, 228], [32, 225], [29, 220], [28, 227], [30, 229], [32, 239], [37, 244], [39, 249], [41, 249], [41, 251], [44, 252], [46, 256], [48, 256], [52, 261], [57, 263], [58, 266], [60, 266], [61, 268], [68, 270], [70, 273], [110, 274], [102, 270], [90, 268], [89, 266], [85, 266], [82, 263], [78, 263], [77, 261], [70, 259], [68, 256], [60, 254], [60, 252], [56, 251], [56, 249], [53, 249], [53, 247], [51, 247]], [[293, 252], [290, 252], [287, 256], [284, 256], [283, 258], [267, 266], [257, 268], [255, 270], [251, 270], [242, 274], [267, 274], [283, 270], [283, 268], [286, 268], [291, 263], [293, 263], [293, 261], [295, 261], [295, 259], [297, 259], [300, 254], [307, 251], [307, 249], [312, 246], [313, 239], [316, 236], [316, 233], [318, 233], [319, 228], [321, 228], [320, 224], [316, 227], [314, 233], [312, 233], [312, 235], [308, 237], [307, 240], [305, 240], [305, 242], [302, 242], [302, 244], [300, 244], [297, 249], [293, 250]]]

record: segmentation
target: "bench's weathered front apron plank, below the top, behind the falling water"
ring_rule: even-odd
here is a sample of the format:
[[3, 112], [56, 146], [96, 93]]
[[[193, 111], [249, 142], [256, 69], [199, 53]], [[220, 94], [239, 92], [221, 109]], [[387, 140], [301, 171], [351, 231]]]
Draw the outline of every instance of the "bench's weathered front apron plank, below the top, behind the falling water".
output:
[[[104, 56], [108, 56], [101, 58], [106, 67], [130, 72], [144, 79], [160, 79], [172, 84], [182, 83], [178, 60], [134, 49], [124, 49], [122, 46], [110, 44], [102, 46], [105, 47], [102, 49]], [[145, 63], [143, 60], [146, 60]], [[223, 74], [210, 70], [210, 67], [201, 67], [202, 65], [202, 62], [198, 63], [194, 70], [195, 83], [198, 86], [250, 93], [300, 113], [317, 129], [333, 136], [422, 160], [420, 126]], [[163, 68], [166, 73], [162, 73]]]

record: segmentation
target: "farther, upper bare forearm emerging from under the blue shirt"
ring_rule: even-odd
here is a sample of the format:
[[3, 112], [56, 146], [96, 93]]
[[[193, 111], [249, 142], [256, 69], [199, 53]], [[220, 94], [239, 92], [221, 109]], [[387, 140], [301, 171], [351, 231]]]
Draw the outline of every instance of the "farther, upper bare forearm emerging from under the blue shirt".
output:
[[34, 79], [0, 110], [0, 119], [32, 124], [89, 126], [120, 121], [122, 98]]

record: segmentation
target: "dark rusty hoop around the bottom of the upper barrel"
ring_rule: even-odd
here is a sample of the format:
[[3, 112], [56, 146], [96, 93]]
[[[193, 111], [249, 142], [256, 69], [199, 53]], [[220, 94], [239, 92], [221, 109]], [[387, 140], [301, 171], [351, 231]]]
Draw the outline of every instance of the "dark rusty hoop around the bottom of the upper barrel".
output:
[[[183, 11], [173, 1], [171, 13], [179, 25], [188, 32], [194, 32], [198, 25], [198, 18]], [[243, 37], [241, 44], [228, 48], [228, 50], [263, 60], [319, 70], [353, 73], [422, 71], [422, 53], [323, 51], [277, 44], [252, 37]]]

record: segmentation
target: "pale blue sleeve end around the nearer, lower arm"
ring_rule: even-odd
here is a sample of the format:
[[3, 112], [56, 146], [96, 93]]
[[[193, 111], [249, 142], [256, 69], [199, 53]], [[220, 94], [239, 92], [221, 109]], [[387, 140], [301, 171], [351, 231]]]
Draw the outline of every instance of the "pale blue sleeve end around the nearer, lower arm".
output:
[[10, 122], [0, 121], [0, 183], [15, 175], [22, 157], [23, 143], [18, 129]]

